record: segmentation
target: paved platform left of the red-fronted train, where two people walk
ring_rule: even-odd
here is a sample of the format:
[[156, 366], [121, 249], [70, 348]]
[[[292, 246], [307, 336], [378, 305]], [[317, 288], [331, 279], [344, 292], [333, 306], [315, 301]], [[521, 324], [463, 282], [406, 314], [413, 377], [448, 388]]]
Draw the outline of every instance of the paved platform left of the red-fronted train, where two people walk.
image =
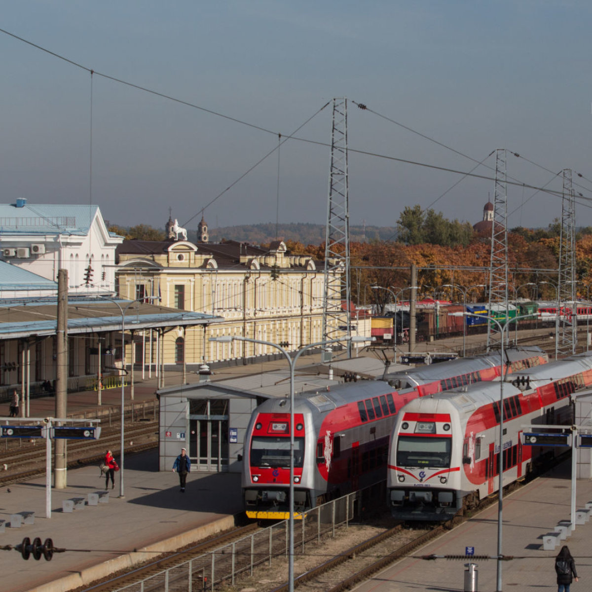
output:
[[[156, 451], [127, 457], [124, 499], [117, 497], [116, 477], [115, 490], [110, 490], [107, 504], [63, 513], [62, 500], [86, 498], [105, 485], [98, 466], [69, 469], [67, 480], [67, 488], [52, 491], [50, 519], [44, 517], [44, 478], [1, 488], [0, 519], [9, 521], [10, 514], [24, 510], [34, 510], [36, 515], [34, 525], [7, 527], [0, 533], [0, 545], [17, 545], [25, 536], [31, 540], [38, 536], [41, 541], [52, 538], [56, 547], [91, 552], [55, 554], [52, 561], [35, 561], [33, 557], [25, 561], [16, 551], [0, 551], [2, 592], [61, 590], [49, 582], [112, 561], [133, 549], [152, 545], [153, 552], [144, 555], [155, 555], [160, 541], [212, 522], [233, 523], [232, 515], [243, 507], [240, 475], [190, 473], [186, 491], [180, 493], [178, 475], [158, 471]], [[224, 518], [226, 522], [219, 522]]]

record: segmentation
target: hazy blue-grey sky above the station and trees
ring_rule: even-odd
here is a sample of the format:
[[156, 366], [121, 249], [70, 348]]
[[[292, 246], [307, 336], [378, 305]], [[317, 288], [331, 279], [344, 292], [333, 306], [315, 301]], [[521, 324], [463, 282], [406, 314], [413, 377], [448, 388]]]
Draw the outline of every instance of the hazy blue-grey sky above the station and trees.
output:
[[[475, 223], [506, 149], [510, 228], [561, 217], [561, 195], [527, 185], [561, 194], [565, 168], [592, 226], [590, 2], [0, 8], [0, 29], [29, 42], [0, 33], [5, 203], [92, 202], [121, 226], [163, 227], [169, 207], [189, 229], [203, 208], [211, 228], [325, 224], [332, 99], [346, 97], [350, 224], [394, 226], [416, 204]], [[482, 160], [485, 178], [461, 174]]]

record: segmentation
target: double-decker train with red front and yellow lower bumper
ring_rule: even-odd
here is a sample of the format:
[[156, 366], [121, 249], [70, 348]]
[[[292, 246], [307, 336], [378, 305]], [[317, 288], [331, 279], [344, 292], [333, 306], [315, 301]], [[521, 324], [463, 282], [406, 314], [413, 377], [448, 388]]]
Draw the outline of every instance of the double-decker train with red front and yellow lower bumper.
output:
[[[507, 350], [507, 371], [547, 361], [539, 348]], [[497, 365], [496, 365], [497, 363]], [[387, 380], [348, 382], [304, 392], [294, 401], [294, 507], [300, 512], [386, 478], [388, 438], [397, 411], [435, 392], [493, 380], [499, 356], [417, 368]], [[247, 516], [285, 519], [289, 507], [289, 399], [269, 399], [253, 411], [244, 439], [242, 487]]]

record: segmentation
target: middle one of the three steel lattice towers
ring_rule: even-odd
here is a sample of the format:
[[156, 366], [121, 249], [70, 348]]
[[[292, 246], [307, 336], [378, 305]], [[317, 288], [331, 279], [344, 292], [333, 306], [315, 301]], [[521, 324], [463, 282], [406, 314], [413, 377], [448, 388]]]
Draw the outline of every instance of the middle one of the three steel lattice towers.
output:
[[[489, 274], [489, 314], [508, 319], [508, 195], [506, 150], [496, 150], [496, 181], [491, 221], [491, 259]], [[487, 351], [500, 347], [503, 331], [497, 323], [487, 323]], [[506, 337], [506, 339], [508, 339]]]

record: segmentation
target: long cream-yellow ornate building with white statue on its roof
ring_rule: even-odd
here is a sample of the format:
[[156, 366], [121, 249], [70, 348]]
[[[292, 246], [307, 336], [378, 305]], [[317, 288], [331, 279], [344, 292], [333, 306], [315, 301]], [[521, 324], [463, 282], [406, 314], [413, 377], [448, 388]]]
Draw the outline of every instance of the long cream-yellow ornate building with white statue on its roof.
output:
[[212, 336], [250, 337], [287, 350], [322, 339], [324, 262], [290, 255], [281, 241], [264, 250], [235, 241], [125, 240], [117, 247], [116, 276], [123, 298], [224, 318], [197, 329], [134, 333], [136, 364], [157, 363], [157, 356], [165, 365], [247, 363], [278, 353], [255, 343], [211, 342]]

